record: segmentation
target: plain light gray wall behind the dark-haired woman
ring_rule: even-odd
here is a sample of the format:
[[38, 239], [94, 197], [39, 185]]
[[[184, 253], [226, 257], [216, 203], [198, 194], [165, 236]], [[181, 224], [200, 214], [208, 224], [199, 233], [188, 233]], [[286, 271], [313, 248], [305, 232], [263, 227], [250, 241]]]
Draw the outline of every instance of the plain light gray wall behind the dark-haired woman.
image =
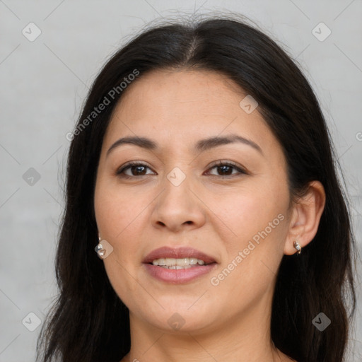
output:
[[[37, 325], [28, 314], [42, 323], [57, 293], [54, 253], [64, 206], [65, 135], [88, 87], [107, 57], [146, 23], [195, 10], [243, 13], [298, 61], [329, 124], [361, 250], [361, 0], [0, 0], [0, 361], [34, 361], [41, 326], [30, 332]], [[30, 22], [42, 32], [32, 42], [22, 33], [36, 35]], [[323, 41], [327, 28], [319, 25], [313, 32], [320, 22], [332, 31]], [[358, 300], [361, 305], [361, 285]], [[361, 361], [360, 310], [351, 341], [348, 361]]]

